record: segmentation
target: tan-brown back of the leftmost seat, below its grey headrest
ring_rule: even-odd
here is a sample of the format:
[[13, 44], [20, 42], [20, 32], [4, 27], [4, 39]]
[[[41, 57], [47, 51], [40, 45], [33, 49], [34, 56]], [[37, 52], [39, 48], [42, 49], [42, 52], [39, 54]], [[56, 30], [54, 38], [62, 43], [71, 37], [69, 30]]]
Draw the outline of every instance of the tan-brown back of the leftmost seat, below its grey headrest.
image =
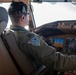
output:
[[0, 75], [20, 75], [0, 36]]

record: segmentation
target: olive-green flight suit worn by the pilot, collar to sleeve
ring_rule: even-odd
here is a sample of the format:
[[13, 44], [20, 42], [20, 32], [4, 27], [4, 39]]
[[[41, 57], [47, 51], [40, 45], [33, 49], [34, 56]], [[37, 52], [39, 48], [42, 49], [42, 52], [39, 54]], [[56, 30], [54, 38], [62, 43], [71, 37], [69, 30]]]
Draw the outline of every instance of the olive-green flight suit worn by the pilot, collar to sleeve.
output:
[[38, 63], [58, 71], [76, 69], [75, 55], [67, 56], [56, 52], [56, 49], [48, 46], [40, 36], [21, 26], [11, 25], [10, 29], [14, 30], [19, 48]]

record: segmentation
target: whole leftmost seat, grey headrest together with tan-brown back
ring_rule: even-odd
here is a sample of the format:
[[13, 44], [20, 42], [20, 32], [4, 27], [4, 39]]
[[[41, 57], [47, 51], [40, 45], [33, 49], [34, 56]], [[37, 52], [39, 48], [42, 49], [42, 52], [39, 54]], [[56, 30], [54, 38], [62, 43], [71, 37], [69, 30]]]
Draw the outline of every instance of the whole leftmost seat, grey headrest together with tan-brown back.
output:
[[7, 11], [0, 7], [0, 75], [20, 75], [1, 38], [1, 33], [7, 26], [7, 21]]

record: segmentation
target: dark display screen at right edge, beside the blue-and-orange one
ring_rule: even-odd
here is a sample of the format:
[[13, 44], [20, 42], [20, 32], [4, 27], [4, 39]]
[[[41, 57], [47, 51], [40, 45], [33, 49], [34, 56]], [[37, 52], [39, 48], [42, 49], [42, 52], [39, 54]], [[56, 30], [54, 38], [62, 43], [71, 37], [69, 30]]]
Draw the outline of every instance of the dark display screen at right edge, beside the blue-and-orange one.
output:
[[76, 38], [67, 38], [65, 49], [67, 52], [76, 52]]

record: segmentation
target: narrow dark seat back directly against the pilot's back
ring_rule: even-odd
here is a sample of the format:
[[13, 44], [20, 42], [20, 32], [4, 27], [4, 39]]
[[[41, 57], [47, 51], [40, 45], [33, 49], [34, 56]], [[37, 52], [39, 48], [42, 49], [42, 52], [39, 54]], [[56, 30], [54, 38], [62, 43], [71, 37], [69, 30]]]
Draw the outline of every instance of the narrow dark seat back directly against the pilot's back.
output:
[[35, 70], [35, 67], [32, 65], [32, 63], [24, 54], [24, 52], [18, 48], [13, 31], [8, 30], [4, 32], [3, 38], [6, 40], [9, 46], [9, 51], [13, 55], [17, 63], [16, 65], [20, 69], [22, 74], [23, 75], [31, 74]]

